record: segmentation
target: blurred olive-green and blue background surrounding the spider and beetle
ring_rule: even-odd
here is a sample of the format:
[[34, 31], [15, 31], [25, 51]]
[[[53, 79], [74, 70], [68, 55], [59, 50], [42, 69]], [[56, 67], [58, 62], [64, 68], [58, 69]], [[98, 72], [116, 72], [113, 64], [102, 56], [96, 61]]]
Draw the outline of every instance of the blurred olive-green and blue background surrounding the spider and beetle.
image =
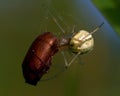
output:
[[[0, 0], [0, 96], [120, 96], [120, 23], [118, 0]], [[33, 40], [45, 31], [92, 31], [95, 47], [60, 76], [37, 86], [24, 82], [22, 61]], [[62, 18], [60, 20], [59, 18]], [[61, 34], [62, 35], [62, 34]], [[59, 53], [54, 64], [63, 64]]]

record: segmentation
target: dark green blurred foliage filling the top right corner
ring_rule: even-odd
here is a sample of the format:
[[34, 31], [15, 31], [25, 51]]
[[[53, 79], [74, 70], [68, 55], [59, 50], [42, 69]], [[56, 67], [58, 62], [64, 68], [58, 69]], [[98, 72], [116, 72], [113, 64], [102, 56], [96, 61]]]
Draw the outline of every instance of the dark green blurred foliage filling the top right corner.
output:
[[96, 7], [104, 14], [112, 27], [120, 34], [120, 1], [119, 0], [92, 0]]

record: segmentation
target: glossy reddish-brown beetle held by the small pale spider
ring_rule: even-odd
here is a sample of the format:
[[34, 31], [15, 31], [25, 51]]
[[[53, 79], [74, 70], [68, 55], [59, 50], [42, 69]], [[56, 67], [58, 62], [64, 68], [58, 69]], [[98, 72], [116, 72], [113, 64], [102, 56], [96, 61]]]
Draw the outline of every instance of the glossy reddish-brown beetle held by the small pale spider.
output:
[[45, 32], [35, 39], [22, 64], [27, 83], [37, 84], [49, 70], [52, 56], [56, 52], [58, 52], [58, 39], [52, 33]]

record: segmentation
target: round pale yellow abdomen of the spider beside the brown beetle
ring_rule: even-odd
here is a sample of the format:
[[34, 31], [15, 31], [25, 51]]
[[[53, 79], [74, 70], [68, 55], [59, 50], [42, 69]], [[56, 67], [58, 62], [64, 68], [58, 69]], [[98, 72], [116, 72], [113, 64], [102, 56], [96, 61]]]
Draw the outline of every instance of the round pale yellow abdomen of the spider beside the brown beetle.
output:
[[85, 30], [80, 30], [70, 40], [70, 49], [74, 53], [80, 52], [80, 54], [84, 54], [90, 52], [93, 46], [94, 39], [92, 35]]

